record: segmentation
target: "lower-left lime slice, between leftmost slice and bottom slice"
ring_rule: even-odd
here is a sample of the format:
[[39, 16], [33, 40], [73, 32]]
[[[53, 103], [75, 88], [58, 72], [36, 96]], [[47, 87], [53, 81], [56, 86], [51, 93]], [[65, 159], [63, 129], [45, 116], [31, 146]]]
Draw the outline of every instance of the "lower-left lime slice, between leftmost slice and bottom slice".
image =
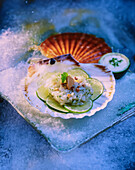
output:
[[46, 99], [46, 104], [51, 108], [59, 112], [68, 113], [69, 111], [61, 106], [52, 96], [48, 96]]

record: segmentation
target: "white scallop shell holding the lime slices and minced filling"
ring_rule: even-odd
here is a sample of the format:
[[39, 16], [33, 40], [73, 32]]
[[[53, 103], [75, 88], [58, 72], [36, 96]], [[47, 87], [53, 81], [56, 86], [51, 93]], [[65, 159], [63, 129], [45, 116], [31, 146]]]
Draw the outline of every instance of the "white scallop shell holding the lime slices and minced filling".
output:
[[[55, 64], [50, 65], [51, 59], [39, 60], [37, 63], [34, 63], [29, 66], [28, 75], [23, 80], [23, 93], [24, 97], [27, 101], [38, 110], [45, 114], [50, 114], [52, 117], [61, 117], [63, 119], [70, 118], [83, 118], [85, 116], [92, 116], [97, 111], [104, 109], [107, 106], [107, 103], [112, 100], [113, 94], [115, 92], [115, 79], [112, 72], [103, 65], [95, 64], [95, 63], [78, 63], [74, 58], [69, 55], [63, 55], [56, 57], [57, 61]], [[47, 107], [44, 102], [42, 102], [36, 96], [36, 90], [39, 87], [39, 80], [42, 75], [46, 72], [53, 71], [66, 71], [66, 69], [71, 69], [74, 67], [81, 67], [85, 70], [92, 78], [96, 78], [103, 83], [104, 92], [103, 94], [93, 102], [93, 107], [90, 111], [81, 114], [75, 113], [60, 113], [57, 111], [51, 110]]]

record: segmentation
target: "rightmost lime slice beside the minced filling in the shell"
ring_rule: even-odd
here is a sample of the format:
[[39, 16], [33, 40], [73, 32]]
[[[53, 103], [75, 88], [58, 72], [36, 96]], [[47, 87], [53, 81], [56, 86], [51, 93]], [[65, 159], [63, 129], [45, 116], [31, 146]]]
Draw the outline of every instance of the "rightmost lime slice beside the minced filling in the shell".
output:
[[103, 94], [104, 91], [103, 84], [99, 80], [94, 78], [87, 79], [87, 82], [90, 83], [93, 89], [93, 95], [91, 96], [91, 99], [96, 100]]

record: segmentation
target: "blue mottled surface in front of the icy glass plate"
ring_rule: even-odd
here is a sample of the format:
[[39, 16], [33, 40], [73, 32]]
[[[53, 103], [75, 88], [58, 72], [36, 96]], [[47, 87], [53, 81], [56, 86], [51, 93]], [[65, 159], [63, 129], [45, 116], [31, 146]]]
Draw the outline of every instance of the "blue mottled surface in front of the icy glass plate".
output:
[[134, 169], [135, 117], [69, 153], [58, 153], [6, 101], [0, 104], [0, 169]]

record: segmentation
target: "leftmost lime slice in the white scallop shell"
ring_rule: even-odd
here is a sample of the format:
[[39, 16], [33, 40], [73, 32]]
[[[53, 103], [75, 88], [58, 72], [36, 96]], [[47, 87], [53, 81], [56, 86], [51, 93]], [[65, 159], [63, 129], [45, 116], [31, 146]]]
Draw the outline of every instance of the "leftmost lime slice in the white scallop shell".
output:
[[47, 96], [49, 95], [49, 90], [48, 88], [45, 88], [44, 86], [40, 86], [37, 91], [36, 91], [37, 97], [42, 100], [46, 101]]

